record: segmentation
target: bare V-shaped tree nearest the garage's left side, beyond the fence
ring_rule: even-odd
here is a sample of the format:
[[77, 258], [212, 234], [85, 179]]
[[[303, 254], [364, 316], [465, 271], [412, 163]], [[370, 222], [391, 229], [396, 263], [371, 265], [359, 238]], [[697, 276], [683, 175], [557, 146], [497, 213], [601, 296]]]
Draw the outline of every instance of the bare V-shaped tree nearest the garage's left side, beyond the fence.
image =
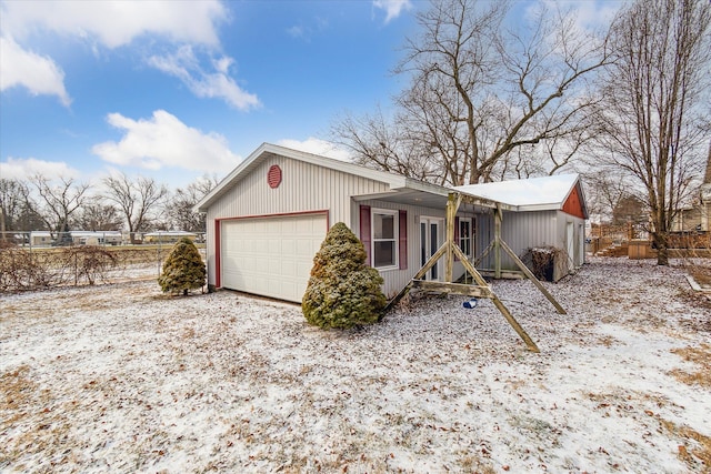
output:
[[159, 204], [168, 195], [168, 189], [151, 178], [139, 177], [131, 181], [124, 173], [104, 178], [103, 184], [107, 188], [103, 198], [119, 208], [131, 242], [134, 242], [136, 232], [149, 230]]

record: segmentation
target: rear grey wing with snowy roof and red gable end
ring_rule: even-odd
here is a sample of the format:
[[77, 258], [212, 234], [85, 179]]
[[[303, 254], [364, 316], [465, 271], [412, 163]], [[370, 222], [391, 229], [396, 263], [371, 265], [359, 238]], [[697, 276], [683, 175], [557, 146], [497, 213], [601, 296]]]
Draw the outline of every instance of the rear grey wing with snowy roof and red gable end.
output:
[[[458, 191], [509, 204], [503, 211], [501, 234], [517, 255], [531, 249], [558, 249], [562, 252], [553, 268], [552, 280], [574, 272], [585, 262], [585, 206], [582, 183], [578, 174], [557, 174], [527, 180], [469, 184]], [[491, 242], [494, 235], [493, 214], [477, 220], [478, 240]], [[494, 268], [495, 255], [489, 253], [479, 265]], [[502, 270], [517, 270], [515, 262], [502, 255]]]

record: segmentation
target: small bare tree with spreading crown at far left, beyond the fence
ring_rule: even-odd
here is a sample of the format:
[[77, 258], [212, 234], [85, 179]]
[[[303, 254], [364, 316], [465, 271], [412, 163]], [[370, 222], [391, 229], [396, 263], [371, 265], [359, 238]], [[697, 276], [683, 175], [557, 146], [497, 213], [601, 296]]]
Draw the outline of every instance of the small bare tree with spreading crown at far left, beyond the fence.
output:
[[89, 184], [77, 183], [73, 178], [50, 180], [42, 174], [30, 181], [40, 196], [38, 213], [47, 229], [60, 235], [69, 232], [70, 219], [83, 205]]

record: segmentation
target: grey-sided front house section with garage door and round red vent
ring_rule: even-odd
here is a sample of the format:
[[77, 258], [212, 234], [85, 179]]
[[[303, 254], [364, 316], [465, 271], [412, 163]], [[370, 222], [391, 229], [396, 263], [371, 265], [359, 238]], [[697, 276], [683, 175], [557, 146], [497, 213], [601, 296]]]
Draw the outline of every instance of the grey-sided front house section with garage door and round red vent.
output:
[[[207, 214], [208, 283], [300, 302], [328, 229], [344, 222], [365, 245], [368, 263], [384, 280], [383, 292], [393, 296], [444, 243], [452, 193], [468, 196], [457, 210], [454, 239], [473, 260], [489, 244], [480, 239], [489, 236], [493, 211], [505, 213], [509, 229], [518, 204], [264, 143], [194, 206]], [[575, 195], [582, 222], [582, 190], [575, 188]], [[558, 215], [551, 212], [542, 219]], [[559, 239], [519, 246], [549, 242]], [[461, 261], [452, 266], [454, 279], [464, 273]], [[438, 262], [424, 279], [442, 280], [444, 270]]]

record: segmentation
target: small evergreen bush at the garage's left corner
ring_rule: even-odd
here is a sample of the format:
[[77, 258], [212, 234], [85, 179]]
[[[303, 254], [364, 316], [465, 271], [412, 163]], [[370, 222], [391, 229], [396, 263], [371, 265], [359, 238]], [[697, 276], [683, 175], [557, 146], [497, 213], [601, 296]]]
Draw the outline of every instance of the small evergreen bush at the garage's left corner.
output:
[[204, 286], [206, 268], [202, 256], [194, 243], [182, 238], [173, 245], [163, 263], [163, 271], [158, 278], [163, 293], [187, 295], [190, 290]]

